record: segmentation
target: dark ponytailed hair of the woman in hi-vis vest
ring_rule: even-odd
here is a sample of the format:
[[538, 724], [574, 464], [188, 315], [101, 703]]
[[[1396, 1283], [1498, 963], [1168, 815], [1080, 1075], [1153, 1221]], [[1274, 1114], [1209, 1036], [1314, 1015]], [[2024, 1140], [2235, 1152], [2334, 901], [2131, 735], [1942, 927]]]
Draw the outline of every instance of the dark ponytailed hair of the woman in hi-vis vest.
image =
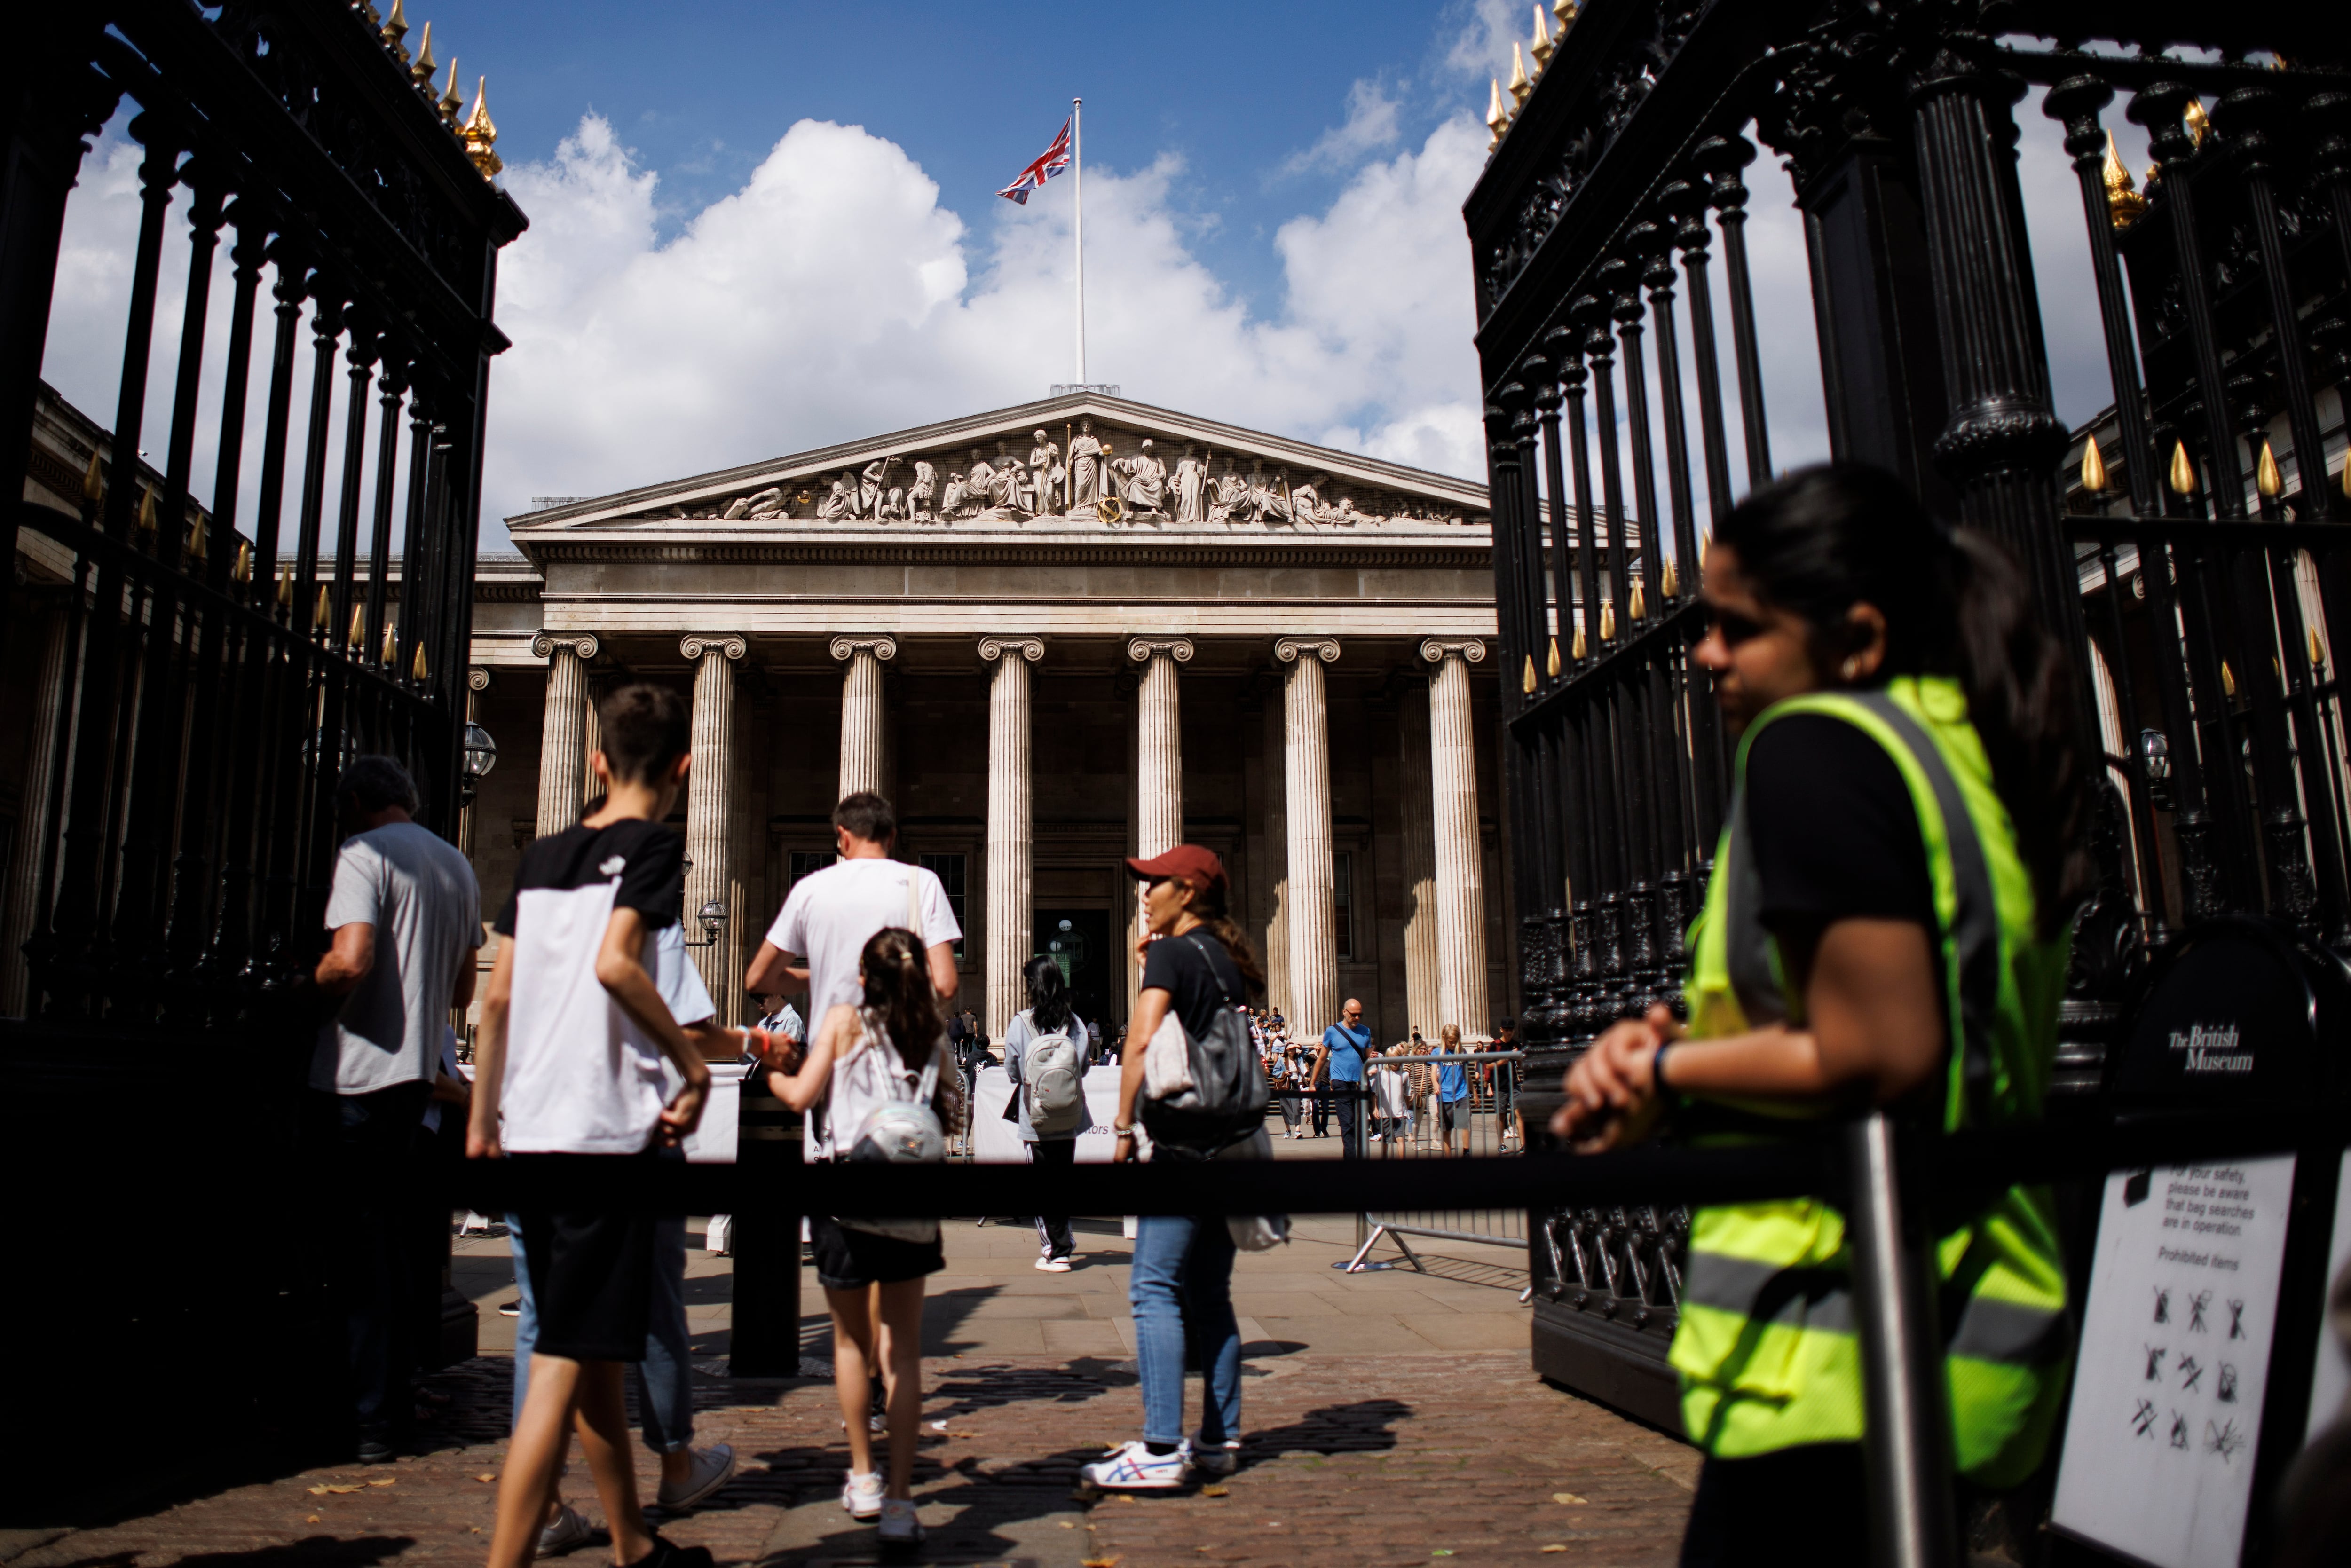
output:
[[2062, 931], [2090, 889], [2076, 679], [2015, 559], [1972, 529], [1937, 524], [1902, 480], [1860, 463], [1773, 480], [1716, 538], [1756, 597], [1810, 623], [1815, 668], [1836, 670], [1853, 651], [1848, 611], [1867, 602], [1886, 616], [1881, 679], [1958, 679], [2041, 931]]

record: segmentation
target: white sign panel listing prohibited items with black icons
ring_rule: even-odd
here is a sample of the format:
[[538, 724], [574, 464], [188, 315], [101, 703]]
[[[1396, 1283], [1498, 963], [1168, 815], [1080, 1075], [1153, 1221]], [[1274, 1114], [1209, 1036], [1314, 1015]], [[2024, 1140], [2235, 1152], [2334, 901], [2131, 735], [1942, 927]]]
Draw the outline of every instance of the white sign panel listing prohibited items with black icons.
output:
[[2295, 1159], [2106, 1178], [2052, 1521], [2156, 1568], [2236, 1568]]

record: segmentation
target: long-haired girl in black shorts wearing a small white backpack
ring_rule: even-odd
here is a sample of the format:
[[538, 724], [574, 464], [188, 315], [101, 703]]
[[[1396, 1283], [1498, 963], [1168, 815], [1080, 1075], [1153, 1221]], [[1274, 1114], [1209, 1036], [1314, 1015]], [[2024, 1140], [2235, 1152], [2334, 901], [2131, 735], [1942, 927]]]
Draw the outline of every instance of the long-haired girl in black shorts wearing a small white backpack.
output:
[[[896, 926], [858, 954], [863, 1004], [835, 1004], [795, 1072], [769, 1070], [771, 1093], [809, 1117], [809, 1159], [846, 1159], [877, 1107], [933, 1084], [940, 1126], [957, 1126], [962, 1077], [947, 1058], [947, 1023], [922, 938]], [[886, 1229], [877, 1229], [886, 1227]], [[832, 1387], [849, 1429], [851, 1519], [882, 1519], [882, 1540], [922, 1540], [915, 1519], [915, 1439], [922, 1427], [922, 1293], [947, 1267], [938, 1220], [809, 1218], [816, 1281], [832, 1309]], [[882, 1368], [889, 1479], [875, 1469], [868, 1425], [870, 1371]]]

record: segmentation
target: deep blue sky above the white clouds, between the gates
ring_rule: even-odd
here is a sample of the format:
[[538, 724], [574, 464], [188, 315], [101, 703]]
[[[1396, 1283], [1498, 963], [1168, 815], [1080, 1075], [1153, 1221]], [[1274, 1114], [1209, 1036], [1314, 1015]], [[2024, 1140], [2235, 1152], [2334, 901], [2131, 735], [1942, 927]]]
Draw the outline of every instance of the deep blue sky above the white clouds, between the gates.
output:
[[[411, 7], [411, 28], [430, 5]], [[1253, 308], [1279, 306], [1286, 219], [1326, 207], [1359, 155], [1418, 143], [1486, 99], [1483, 26], [1467, 5], [534, 0], [468, 5], [433, 31], [444, 63], [456, 52], [468, 99], [489, 75], [508, 162], [548, 160], [585, 110], [609, 118], [661, 174], [663, 237], [738, 190], [797, 120], [896, 141], [945, 207], [987, 228], [1013, 212], [992, 193], [1081, 94], [1089, 169], [1183, 160], [1168, 209], [1192, 254]]]

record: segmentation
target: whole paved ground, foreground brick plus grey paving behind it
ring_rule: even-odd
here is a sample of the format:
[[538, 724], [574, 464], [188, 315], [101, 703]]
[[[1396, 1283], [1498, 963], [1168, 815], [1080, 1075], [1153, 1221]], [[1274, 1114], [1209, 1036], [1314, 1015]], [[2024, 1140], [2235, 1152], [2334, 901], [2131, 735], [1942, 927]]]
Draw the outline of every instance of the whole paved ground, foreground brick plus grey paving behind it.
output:
[[[931, 1542], [919, 1561], [1674, 1561], [1695, 1455], [1533, 1378], [1521, 1255], [1415, 1241], [1425, 1274], [1342, 1274], [1331, 1265], [1354, 1251], [1347, 1218], [1305, 1220], [1291, 1246], [1239, 1262], [1241, 1472], [1183, 1495], [1074, 1497], [1077, 1467], [1140, 1427], [1126, 1241], [1114, 1218], [1079, 1227], [1081, 1267], [1041, 1274], [1027, 1227], [947, 1225], [947, 1272], [933, 1279], [924, 1321], [917, 1495]], [[1375, 1258], [1396, 1251], [1382, 1244]], [[726, 1378], [726, 1269], [724, 1258], [691, 1253], [696, 1441], [734, 1443], [741, 1474], [663, 1530], [712, 1547], [722, 1563], [877, 1561], [870, 1528], [851, 1526], [837, 1502], [846, 1446], [830, 1382]], [[14, 1533], [0, 1537], [0, 1561], [482, 1561], [508, 1420], [513, 1319], [496, 1312], [513, 1298], [503, 1234], [458, 1244], [458, 1284], [482, 1305], [482, 1356], [433, 1380], [447, 1403], [428, 1427], [428, 1453], [252, 1479], [113, 1523]], [[813, 1276], [804, 1291], [802, 1352], [820, 1361], [830, 1331]], [[1197, 1382], [1187, 1394], [1197, 1413]], [[651, 1495], [642, 1446], [639, 1462]], [[569, 1495], [595, 1516], [578, 1465]], [[569, 1561], [604, 1563], [609, 1549]]]

